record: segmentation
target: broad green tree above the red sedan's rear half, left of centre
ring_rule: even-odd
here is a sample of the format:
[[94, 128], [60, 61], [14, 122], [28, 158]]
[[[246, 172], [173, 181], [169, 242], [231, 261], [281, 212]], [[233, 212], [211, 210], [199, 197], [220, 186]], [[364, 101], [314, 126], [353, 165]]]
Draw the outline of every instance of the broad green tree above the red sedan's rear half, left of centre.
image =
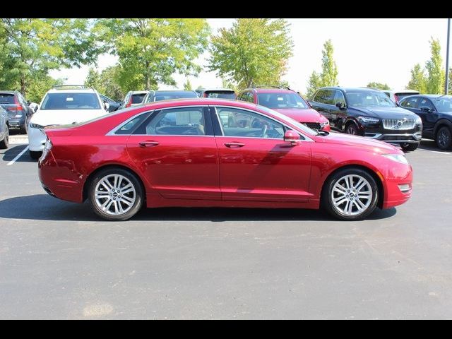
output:
[[194, 63], [207, 47], [209, 27], [197, 18], [98, 19], [93, 30], [105, 50], [119, 57], [122, 90], [175, 85], [173, 73], [197, 75]]

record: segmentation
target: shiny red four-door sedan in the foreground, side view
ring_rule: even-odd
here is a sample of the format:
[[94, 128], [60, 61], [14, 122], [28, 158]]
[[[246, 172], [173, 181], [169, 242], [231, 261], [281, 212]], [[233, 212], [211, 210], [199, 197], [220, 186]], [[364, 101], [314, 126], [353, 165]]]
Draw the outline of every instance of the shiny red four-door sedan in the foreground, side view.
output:
[[45, 132], [44, 190], [88, 200], [107, 220], [129, 219], [143, 205], [323, 206], [357, 220], [411, 196], [412, 168], [392, 145], [314, 131], [236, 100], [153, 102]]

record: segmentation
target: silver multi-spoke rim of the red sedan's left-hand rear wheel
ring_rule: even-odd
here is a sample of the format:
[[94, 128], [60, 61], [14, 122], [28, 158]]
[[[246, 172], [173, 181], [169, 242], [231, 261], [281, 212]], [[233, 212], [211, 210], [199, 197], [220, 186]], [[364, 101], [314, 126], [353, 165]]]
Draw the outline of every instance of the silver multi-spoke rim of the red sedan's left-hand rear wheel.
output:
[[123, 215], [136, 201], [135, 186], [120, 174], [109, 174], [95, 186], [95, 202], [104, 213]]

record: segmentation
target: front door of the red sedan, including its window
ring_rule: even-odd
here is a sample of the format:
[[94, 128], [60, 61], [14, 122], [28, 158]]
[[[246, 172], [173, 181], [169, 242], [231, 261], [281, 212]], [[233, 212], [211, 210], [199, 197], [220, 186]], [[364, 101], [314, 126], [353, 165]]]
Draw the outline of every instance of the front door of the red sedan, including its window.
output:
[[220, 121], [222, 131], [215, 139], [223, 200], [309, 200], [310, 142], [286, 143], [285, 127], [256, 112], [231, 107], [215, 110], [213, 120]]

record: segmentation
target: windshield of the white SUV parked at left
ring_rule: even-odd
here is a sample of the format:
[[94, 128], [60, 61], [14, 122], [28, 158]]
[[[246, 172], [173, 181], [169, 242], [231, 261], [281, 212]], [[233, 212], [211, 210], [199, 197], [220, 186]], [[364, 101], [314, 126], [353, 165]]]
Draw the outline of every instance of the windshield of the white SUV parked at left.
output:
[[42, 102], [45, 109], [100, 109], [95, 93], [49, 93]]

